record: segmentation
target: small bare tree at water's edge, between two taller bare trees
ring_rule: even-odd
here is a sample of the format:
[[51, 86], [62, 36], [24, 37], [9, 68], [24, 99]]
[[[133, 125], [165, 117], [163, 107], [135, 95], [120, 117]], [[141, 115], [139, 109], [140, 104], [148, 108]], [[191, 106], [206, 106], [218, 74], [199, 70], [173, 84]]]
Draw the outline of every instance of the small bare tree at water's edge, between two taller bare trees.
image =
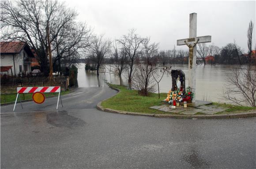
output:
[[113, 42], [114, 51], [110, 56], [110, 61], [113, 68], [117, 70], [120, 79], [120, 85], [122, 85], [122, 73], [127, 68], [128, 55], [124, 48], [118, 49], [116, 40]]

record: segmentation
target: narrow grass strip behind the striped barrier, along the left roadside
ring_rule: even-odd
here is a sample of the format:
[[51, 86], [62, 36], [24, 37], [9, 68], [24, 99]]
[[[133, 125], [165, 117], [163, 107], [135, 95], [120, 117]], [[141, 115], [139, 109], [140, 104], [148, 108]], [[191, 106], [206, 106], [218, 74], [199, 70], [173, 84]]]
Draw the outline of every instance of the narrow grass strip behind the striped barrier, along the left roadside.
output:
[[[60, 92], [60, 95], [68, 94], [70, 93], [70, 90], [67, 91], [62, 91]], [[33, 93], [24, 93], [24, 94], [19, 94], [19, 98], [21, 100], [31, 100], [32, 99]], [[50, 97], [50, 96], [58, 96], [59, 93], [44, 93], [45, 97]], [[3, 103], [10, 103], [10, 102], [15, 102], [17, 93], [13, 94], [1, 94], [1, 104]], [[18, 101], [20, 101], [18, 98]]]

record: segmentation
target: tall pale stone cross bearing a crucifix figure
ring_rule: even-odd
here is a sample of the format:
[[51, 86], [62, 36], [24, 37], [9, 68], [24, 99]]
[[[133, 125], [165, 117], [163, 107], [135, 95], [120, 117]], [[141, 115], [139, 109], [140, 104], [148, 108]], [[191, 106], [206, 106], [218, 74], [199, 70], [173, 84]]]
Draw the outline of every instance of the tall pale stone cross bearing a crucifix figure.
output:
[[189, 47], [188, 86], [195, 93], [192, 102], [196, 101], [196, 44], [211, 42], [211, 36], [196, 37], [196, 21], [197, 14], [189, 14], [189, 38], [177, 40], [177, 45], [187, 45]]

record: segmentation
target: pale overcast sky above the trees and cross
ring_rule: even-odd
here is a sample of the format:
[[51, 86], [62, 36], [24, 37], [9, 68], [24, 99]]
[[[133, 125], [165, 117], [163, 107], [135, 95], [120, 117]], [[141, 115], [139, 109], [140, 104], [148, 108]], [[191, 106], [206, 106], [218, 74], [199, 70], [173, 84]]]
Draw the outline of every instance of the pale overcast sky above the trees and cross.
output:
[[[237, 44], [247, 52], [247, 29], [254, 22], [256, 41], [256, 1], [168, 1], [168, 0], [62, 0], [75, 8], [78, 19], [87, 22], [96, 34], [118, 39], [135, 28], [140, 36], [150, 36], [161, 50], [173, 49], [177, 39], [188, 38], [189, 14], [197, 13], [197, 36], [212, 36], [219, 47]], [[210, 44], [210, 43], [208, 43]], [[185, 48], [178, 46], [177, 49]]]

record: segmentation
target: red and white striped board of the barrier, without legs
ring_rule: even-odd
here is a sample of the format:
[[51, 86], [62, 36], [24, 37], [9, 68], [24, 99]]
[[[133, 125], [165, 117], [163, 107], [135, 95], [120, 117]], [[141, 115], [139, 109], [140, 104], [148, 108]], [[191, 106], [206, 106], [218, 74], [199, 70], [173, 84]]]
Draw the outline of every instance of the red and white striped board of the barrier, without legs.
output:
[[56, 93], [60, 92], [60, 86], [45, 86], [45, 87], [17, 87], [17, 93]]

